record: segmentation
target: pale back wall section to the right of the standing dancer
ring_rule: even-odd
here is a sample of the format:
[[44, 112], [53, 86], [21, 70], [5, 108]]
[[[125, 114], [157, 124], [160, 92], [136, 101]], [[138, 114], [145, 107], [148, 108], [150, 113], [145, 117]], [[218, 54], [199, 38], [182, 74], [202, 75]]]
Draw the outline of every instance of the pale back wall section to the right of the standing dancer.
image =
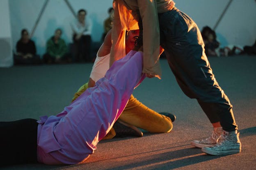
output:
[[[213, 28], [229, 0], [176, 0], [176, 7], [187, 13], [200, 29]], [[222, 46], [252, 45], [256, 40], [256, 0], [233, 0], [216, 28]]]

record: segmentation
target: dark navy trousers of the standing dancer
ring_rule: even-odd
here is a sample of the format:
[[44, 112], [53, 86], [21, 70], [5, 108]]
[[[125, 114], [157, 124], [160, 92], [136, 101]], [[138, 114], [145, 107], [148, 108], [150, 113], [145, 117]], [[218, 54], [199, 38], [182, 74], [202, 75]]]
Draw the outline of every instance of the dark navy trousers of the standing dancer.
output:
[[237, 129], [232, 105], [217, 83], [194, 21], [177, 9], [160, 16], [161, 46], [183, 92], [196, 98], [211, 123], [223, 130]]

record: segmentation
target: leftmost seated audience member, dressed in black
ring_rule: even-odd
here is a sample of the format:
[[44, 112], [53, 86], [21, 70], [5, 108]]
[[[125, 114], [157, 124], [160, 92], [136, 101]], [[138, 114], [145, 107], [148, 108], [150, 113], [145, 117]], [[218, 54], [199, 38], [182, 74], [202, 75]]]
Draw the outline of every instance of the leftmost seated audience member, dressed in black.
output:
[[26, 29], [21, 31], [21, 39], [16, 44], [16, 54], [14, 54], [14, 64], [39, 64], [40, 56], [36, 55], [37, 50], [34, 41]]

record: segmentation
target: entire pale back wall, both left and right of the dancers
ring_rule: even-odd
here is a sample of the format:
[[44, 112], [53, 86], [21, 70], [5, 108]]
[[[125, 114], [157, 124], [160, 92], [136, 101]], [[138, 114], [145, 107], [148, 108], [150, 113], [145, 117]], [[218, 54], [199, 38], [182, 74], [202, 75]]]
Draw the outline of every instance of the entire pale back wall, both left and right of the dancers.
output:
[[[2, 1], [2, 0], [1, 0]], [[32, 30], [45, 0], [9, 0], [12, 42], [15, 45], [23, 28]], [[93, 41], [100, 41], [103, 33], [103, 21], [107, 18], [107, 9], [112, 0], [69, 0], [75, 11], [87, 10], [93, 22]], [[208, 25], [214, 27], [229, 0], [176, 0], [176, 7], [187, 13], [201, 29]], [[252, 45], [256, 39], [256, 1], [233, 0], [224, 18], [216, 29], [222, 45]], [[46, 10], [35, 30], [33, 40], [40, 55], [45, 52], [46, 40], [53, 35], [57, 27], [63, 29], [63, 38], [71, 42], [69, 23], [73, 14], [64, 0], [49, 0]]]

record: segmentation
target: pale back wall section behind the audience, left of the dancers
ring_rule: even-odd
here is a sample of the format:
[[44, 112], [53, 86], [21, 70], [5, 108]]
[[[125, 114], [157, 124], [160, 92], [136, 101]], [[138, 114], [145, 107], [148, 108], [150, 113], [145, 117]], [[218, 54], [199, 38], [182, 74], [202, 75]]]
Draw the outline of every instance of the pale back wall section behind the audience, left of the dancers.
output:
[[[27, 28], [31, 33], [45, 0], [9, 0], [11, 12], [11, 32], [13, 43], [20, 38], [21, 29]], [[77, 12], [86, 9], [87, 17], [92, 21], [92, 40], [100, 41], [103, 33], [103, 21], [108, 17], [107, 9], [112, 7], [112, 0], [69, 0]], [[45, 44], [56, 28], [63, 30], [62, 38], [71, 42], [72, 30], [70, 22], [74, 20], [64, 0], [49, 0], [37, 25], [32, 40], [35, 41], [38, 54], [45, 53]]]

